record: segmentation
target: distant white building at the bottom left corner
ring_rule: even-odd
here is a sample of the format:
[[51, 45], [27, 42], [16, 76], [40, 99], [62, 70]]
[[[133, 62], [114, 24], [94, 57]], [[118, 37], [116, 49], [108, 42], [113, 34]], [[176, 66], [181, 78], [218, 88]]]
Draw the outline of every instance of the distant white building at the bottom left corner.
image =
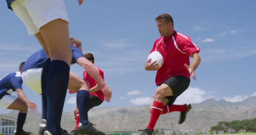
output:
[[4, 133], [4, 135], [12, 135], [16, 125], [17, 119], [0, 115], [0, 133]]

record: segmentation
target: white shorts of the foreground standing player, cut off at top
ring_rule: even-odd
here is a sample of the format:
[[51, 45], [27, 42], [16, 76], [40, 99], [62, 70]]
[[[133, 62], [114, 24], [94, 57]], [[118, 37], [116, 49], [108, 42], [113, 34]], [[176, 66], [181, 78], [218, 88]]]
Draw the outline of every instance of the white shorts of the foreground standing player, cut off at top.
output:
[[52, 20], [69, 22], [64, 0], [15, 0], [11, 7], [30, 35], [38, 33], [42, 26]]

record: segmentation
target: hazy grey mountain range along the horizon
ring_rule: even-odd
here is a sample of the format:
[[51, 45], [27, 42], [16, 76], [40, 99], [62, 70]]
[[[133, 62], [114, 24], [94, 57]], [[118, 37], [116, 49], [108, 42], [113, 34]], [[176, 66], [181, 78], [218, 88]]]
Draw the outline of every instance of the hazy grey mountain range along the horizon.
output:
[[[0, 114], [16, 119], [18, 111]], [[138, 131], [148, 125], [150, 119], [149, 105], [140, 107], [102, 107], [88, 112], [89, 121], [96, 128], [105, 132]], [[172, 112], [160, 116], [156, 127], [158, 129], [176, 131], [206, 131], [219, 121], [253, 119], [256, 117], [256, 96], [248, 97], [240, 102], [230, 102], [224, 99], [206, 99], [201, 103], [192, 104], [186, 121], [178, 124], [180, 112]], [[37, 133], [41, 113], [29, 111], [24, 129]], [[75, 126], [73, 112], [63, 112], [61, 125], [63, 129], [72, 131]]]

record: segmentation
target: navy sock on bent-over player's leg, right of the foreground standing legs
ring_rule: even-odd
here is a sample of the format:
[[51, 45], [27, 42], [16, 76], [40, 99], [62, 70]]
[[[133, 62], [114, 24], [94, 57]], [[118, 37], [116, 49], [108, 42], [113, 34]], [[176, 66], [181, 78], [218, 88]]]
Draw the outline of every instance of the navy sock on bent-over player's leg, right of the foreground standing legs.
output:
[[79, 110], [80, 123], [82, 123], [82, 125], [88, 124], [87, 108], [89, 105], [89, 94], [89, 91], [82, 89], [78, 91], [76, 95], [76, 105]]

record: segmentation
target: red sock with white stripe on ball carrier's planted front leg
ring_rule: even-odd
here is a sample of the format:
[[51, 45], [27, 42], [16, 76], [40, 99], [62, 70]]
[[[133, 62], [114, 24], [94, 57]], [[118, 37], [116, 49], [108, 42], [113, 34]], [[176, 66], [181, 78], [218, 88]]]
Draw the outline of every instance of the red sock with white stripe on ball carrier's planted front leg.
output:
[[164, 108], [164, 103], [154, 101], [152, 105], [152, 110], [151, 110], [151, 117], [150, 121], [148, 123], [148, 128], [152, 131], [154, 131], [154, 127], [156, 125], [156, 121], [158, 120], [160, 114], [162, 113]]

